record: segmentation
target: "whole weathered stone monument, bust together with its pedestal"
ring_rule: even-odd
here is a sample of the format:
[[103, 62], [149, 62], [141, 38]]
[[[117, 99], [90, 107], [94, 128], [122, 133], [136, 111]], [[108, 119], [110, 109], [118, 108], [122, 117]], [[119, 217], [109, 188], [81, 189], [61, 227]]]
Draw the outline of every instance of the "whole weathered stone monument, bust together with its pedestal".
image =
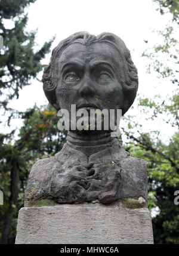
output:
[[[125, 152], [109, 124], [119, 124], [116, 113], [124, 115], [137, 94], [124, 42], [112, 33], [75, 33], [54, 48], [42, 81], [70, 125], [63, 149], [30, 171], [24, 206], [31, 208], [19, 212], [16, 243], [153, 243], [146, 161]], [[102, 118], [97, 129], [93, 118], [91, 130], [90, 114], [87, 129], [74, 129], [77, 110], [107, 110], [108, 128]]]

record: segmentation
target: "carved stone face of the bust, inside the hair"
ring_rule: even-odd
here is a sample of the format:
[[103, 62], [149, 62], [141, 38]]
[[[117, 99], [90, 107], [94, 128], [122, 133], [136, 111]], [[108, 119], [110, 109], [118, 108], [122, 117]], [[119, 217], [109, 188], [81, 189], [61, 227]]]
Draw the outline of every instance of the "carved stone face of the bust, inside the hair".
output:
[[56, 97], [60, 109], [122, 109], [124, 92], [119, 81], [120, 58], [112, 45], [104, 42], [86, 47], [69, 45], [61, 54], [60, 79]]

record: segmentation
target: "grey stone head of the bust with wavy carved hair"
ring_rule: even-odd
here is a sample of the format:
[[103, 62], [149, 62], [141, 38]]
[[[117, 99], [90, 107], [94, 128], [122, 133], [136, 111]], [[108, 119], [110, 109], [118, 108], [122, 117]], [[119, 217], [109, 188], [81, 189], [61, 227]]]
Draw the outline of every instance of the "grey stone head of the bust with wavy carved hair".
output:
[[78, 32], [61, 41], [44, 69], [42, 82], [48, 101], [57, 110], [76, 104], [77, 108], [122, 109], [122, 115], [138, 89], [131, 54], [113, 33]]

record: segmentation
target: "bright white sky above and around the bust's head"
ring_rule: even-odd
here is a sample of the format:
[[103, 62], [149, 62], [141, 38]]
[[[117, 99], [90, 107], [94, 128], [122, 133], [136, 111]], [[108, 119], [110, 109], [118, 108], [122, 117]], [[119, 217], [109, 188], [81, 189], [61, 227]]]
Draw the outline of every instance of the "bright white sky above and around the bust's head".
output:
[[[132, 60], [138, 69], [139, 89], [138, 94], [152, 98], [156, 94], [161, 94], [163, 99], [170, 94], [171, 87], [168, 81], [156, 78], [154, 74], [146, 73], [145, 59], [141, 58], [141, 53], [148, 44], [144, 39], [153, 45], [158, 41], [153, 29], [164, 29], [168, 23], [169, 15], [161, 16], [156, 11], [158, 5], [152, 0], [37, 0], [27, 9], [29, 22], [27, 30], [36, 30], [37, 48], [41, 47], [45, 41], [56, 35], [51, 50], [62, 39], [78, 31], [88, 31], [94, 35], [102, 32], [112, 32], [121, 37], [126, 46], [131, 51]], [[48, 54], [44, 64], [50, 61]], [[38, 78], [41, 79], [42, 72]], [[162, 88], [162, 90], [161, 90]], [[34, 104], [41, 106], [47, 103], [42, 83], [32, 81], [32, 85], [24, 87], [20, 91], [18, 100], [13, 100], [9, 104], [13, 109], [24, 111]], [[134, 104], [135, 106], [136, 104]], [[129, 110], [129, 114], [132, 110]], [[135, 113], [137, 109], [135, 107]], [[14, 121], [14, 125], [19, 126], [20, 121]], [[144, 126], [144, 129], [147, 129]], [[156, 129], [159, 128], [157, 124]], [[8, 129], [2, 128], [2, 132]], [[168, 128], [163, 130], [168, 134]]]

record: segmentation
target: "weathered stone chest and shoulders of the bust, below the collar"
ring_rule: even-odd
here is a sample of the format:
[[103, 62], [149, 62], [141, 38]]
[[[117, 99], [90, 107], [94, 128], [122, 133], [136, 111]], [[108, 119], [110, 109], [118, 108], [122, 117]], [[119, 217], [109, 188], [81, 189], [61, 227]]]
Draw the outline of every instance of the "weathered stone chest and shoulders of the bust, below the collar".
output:
[[42, 199], [57, 203], [111, 203], [140, 196], [147, 203], [146, 161], [132, 158], [118, 140], [110, 141], [89, 157], [67, 142], [54, 157], [39, 160], [33, 166], [24, 206], [36, 205]]

